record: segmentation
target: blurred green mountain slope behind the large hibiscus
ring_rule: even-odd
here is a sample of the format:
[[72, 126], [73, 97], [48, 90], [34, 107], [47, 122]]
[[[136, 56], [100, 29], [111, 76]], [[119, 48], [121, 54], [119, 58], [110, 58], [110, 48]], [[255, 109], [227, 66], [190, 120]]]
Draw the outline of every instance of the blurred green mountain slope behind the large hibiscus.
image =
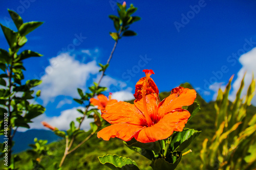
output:
[[[189, 83], [181, 84], [182, 87], [193, 89]], [[161, 92], [159, 94], [160, 99], [166, 98], [170, 92]], [[200, 151], [202, 148], [202, 142], [205, 138], [212, 138], [215, 134], [215, 117], [216, 111], [214, 108], [214, 102], [205, 102], [203, 98], [197, 94], [196, 101], [200, 104], [201, 110], [186, 124], [186, 127], [202, 131], [188, 147], [193, 152], [182, 157], [181, 162], [176, 169], [200, 169]], [[132, 103], [133, 101], [129, 101]], [[256, 107], [250, 106], [248, 108], [249, 115], [253, 115], [256, 112]], [[185, 127], [185, 128], [186, 128]], [[78, 136], [78, 141], [81, 141], [87, 136], [87, 134], [81, 134]], [[35, 134], [36, 137], [36, 134]], [[78, 143], [78, 142], [77, 142]], [[15, 144], [19, 144], [16, 142]], [[63, 152], [65, 150], [65, 141], [60, 140], [49, 144], [52, 150], [52, 156], [46, 156], [42, 159], [41, 163], [46, 169], [53, 169], [54, 161], [60, 162]], [[109, 169], [99, 163], [98, 156], [106, 154], [117, 154], [123, 157], [129, 157], [136, 161], [140, 169], [152, 169], [148, 166], [151, 161], [142, 157], [138, 153], [125, 147], [122, 140], [118, 138], [111, 138], [110, 141], [104, 141], [98, 139], [96, 135], [92, 136], [86, 143], [81, 147], [68, 155], [66, 161], [63, 164], [63, 168], [67, 170], [72, 169]], [[17, 167], [20, 169], [32, 169], [32, 161], [26, 152], [18, 154], [22, 158], [22, 163], [17, 163]], [[0, 168], [3, 164], [0, 164]]]

